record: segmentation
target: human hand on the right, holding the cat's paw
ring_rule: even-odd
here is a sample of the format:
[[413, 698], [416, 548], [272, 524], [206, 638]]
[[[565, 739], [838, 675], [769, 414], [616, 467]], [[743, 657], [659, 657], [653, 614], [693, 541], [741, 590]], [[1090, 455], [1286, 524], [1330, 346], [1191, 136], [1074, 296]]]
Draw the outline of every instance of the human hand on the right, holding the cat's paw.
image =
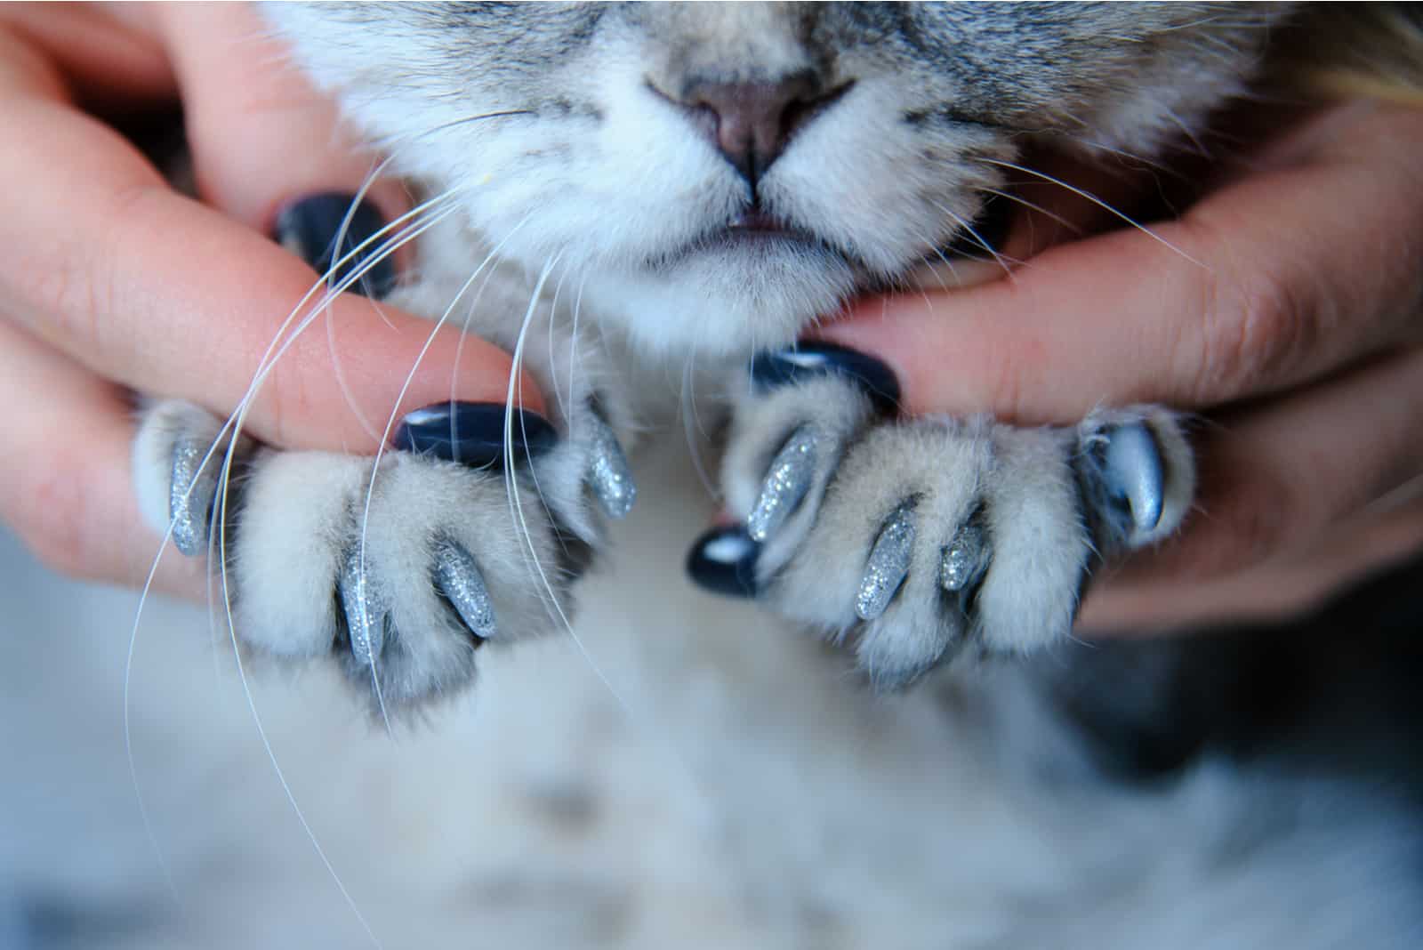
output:
[[1057, 229], [1027, 213], [1012, 279], [862, 301], [822, 336], [884, 360], [911, 415], [1205, 414], [1197, 511], [1094, 582], [1081, 627], [1308, 607], [1423, 543], [1420, 146], [1423, 112], [1339, 105], [1151, 235], [1042, 250]]

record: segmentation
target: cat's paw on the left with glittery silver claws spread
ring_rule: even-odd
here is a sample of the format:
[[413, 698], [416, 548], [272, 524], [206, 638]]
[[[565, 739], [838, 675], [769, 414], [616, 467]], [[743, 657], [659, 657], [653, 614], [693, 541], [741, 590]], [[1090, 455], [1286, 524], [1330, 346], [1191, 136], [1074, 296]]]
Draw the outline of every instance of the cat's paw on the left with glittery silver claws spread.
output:
[[209, 557], [243, 644], [332, 656], [400, 708], [467, 685], [487, 643], [561, 629], [571, 580], [635, 498], [592, 404], [562, 434], [504, 418], [502, 405], [413, 412], [396, 438], [407, 451], [379, 462], [243, 439], [223, 478], [218, 420], [162, 402], [139, 425], [138, 493], [179, 552]]

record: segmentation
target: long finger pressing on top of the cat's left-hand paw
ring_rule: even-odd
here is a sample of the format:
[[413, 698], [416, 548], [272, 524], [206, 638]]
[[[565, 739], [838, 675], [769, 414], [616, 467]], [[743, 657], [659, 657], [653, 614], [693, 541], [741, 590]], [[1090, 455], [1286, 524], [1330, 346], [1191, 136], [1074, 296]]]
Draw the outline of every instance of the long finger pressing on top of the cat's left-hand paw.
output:
[[[9, 135], [4, 129], [23, 129]], [[171, 192], [112, 129], [63, 102], [9, 95], [0, 175], [23, 181], [0, 215], [0, 306], [105, 378], [226, 415], [314, 274], [276, 245]], [[54, 161], [61, 155], [64, 161]], [[65, 208], [67, 215], [55, 213]], [[391, 412], [499, 402], [511, 361], [453, 327], [351, 294], [276, 363], [250, 431], [287, 448], [369, 451]], [[428, 350], [427, 350], [428, 344]], [[404, 398], [406, 377], [418, 363]], [[536, 387], [522, 384], [539, 411]]]

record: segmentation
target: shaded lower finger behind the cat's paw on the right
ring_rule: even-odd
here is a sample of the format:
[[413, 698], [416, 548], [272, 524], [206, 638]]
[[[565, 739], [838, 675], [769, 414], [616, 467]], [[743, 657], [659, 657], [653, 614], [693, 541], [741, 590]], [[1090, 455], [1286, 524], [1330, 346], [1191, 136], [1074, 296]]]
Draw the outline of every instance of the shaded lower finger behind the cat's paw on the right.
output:
[[[1251, 569], [1345, 548], [1348, 522], [1423, 472], [1423, 350], [1222, 414], [1200, 432], [1201, 479], [1187, 530], [1100, 579], [1091, 626], [1181, 623], [1242, 600]], [[1417, 525], [1414, 523], [1414, 528]], [[1420, 535], [1412, 536], [1414, 548]], [[1393, 548], [1383, 549], [1383, 553]], [[1368, 562], [1363, 562], [1368, 563]], [[1296, 572], [1298, 573], [1298, 572]], [[1220, 599], [1204, 589], [1235, 590]], [[1237, 596], [1239, 594], [1239, 596]], [[1258, 589], [1261, 606], [1303, 592]]]

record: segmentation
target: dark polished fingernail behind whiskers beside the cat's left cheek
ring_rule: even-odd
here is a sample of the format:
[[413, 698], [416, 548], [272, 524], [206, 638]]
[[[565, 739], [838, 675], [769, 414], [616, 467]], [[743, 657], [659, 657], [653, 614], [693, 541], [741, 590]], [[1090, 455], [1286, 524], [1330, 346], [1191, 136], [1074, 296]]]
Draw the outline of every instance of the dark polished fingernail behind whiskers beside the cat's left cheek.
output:
[[[381, 228], [386, 219], [376, 206], [363, 201], [351, 210], [354, 195], [326, 192], [309, 195], [292, 202], [276, 216], [273, 238], [293, 255], [312, 265], [316, 273], [327, 276], [332, 263], [340, 260], [361, 245], [366, 245]], [[347, 222], [347, 215], [350, 220]], [[342, 225], [346, 225], [344, 233]], [[336, 238], [342, 238], [340, 250]], [[329, 274], [332, 283], [339, 283], [347, 274], [360, 270], [373, 253], [386, 243], [387, 236], [370, 240], [361, 252]], [[347, 290], [376, 300], [396, 289], [396, 262], [386, 255], [370, 266]]]

